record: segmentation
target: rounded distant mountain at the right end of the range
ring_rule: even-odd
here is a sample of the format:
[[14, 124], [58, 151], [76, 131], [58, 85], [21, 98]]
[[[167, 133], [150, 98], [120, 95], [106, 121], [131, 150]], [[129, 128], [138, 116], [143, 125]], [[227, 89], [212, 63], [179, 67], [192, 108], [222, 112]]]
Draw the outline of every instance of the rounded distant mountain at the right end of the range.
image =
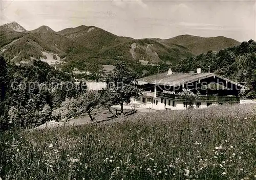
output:
[[237, 46], [241, 43], [223, 36], [204, 38], [199, 36], [181, 35], [170, 39], [159, 40], [159, 42], [171, 45], [179, 44], [187, 47], [192, 53], [199, 55], [208, 50], [219, 51], [221, 49]]

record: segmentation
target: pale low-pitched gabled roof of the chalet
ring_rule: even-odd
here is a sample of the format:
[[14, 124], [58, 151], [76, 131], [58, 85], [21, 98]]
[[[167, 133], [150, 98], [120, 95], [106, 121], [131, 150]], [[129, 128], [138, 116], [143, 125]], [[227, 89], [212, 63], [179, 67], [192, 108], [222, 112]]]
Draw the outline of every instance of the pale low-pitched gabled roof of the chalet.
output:
[[195, 82], [211, 76], [216, 76], [220, 79], [228, 81], [229, 83], [235, 84], [242, 88], [248, 89], [245, 86], [238, 84], [236, 82], [230, 81], [222, 76], [216, 75], [215, 73], [185, 73], [185, 72], [173, 72], [168, 75], [168, 72], [147, 76], [138, 80], [139, 84], [158, 84], [158, 85], [168, 85], [168, 86], [180, 86], [182, 84], [187, 84], [190, 82]]

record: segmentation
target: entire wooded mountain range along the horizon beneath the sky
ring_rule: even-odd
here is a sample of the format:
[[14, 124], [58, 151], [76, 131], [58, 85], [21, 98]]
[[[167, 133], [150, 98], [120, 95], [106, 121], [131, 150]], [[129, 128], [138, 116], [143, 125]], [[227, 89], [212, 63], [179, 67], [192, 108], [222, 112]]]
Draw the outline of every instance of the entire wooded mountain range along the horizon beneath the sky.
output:
[[113, 64], [117, 59], [145, 64], [173, 64], [209, 50], [219, 51], [241, 44], [223, 36], [205, 38], [181, 35], [170, 39], [134, 39], [85, 25], [59, 32], [42, 25], [27, 31], [17, 22], [1, 25], [0, 38], [0, 53], [9, 61], [49, 59], [46, 54], [50, 54], [66, 62], [101, 65]]

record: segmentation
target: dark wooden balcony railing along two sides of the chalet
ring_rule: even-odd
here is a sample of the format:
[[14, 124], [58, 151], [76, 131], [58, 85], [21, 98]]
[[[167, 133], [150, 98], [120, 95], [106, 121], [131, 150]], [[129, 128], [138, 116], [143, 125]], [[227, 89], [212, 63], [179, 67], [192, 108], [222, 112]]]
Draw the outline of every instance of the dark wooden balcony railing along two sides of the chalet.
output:
[[[154, 95], [154, 93], [153, 93]], [[187, 100], [184, 96], [176, 95], [176, 94], [168, 94], [164, 92], [157, 92], [157, 97], [176, 99], [176, 100]], [[209, 102], [240, 102], [239, 97], [231, 97], [231, 96], [205, 96], [199, 95], [196, 97], [195, 101], [209, 101]]]

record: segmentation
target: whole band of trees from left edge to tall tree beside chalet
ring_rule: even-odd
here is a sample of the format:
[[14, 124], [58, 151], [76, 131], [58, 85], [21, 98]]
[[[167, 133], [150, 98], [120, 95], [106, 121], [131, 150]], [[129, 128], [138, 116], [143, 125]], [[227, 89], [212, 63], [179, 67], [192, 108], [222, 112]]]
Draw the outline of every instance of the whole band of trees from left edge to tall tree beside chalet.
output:
[[[33, 60], [26, 65], [6, 62], [0, 56], [0, 130], [31, 128], [49, 120], [68, 120], [101, 106], [123, 107], [131, 97], [139, 97], [137, 74], [125, 63], [118, 63], [106, 77], [111, 86], [88, 90], [86, 83], [75, 83], [71, 74]], [[122, 108], [121, 108], [122, 110]]]

